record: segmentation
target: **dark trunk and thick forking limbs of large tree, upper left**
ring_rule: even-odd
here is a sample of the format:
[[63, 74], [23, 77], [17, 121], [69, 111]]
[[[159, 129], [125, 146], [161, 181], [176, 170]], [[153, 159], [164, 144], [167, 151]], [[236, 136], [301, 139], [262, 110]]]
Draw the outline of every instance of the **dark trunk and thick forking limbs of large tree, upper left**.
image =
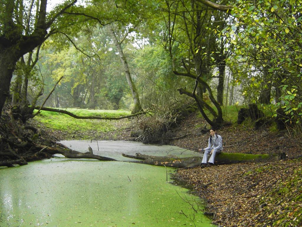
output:
[[[18, 4], [14, 0], [2, 1], [1, 7], [4, 10], [2, 10], [3, 12], [1, 12], [2, 15], [0, 17], [0, 23], [2, 25], [0, 35], [0, 114], [2, 113], [6, 97], [8, 97], [9, 94], [11, 77], [16, 62], [24, 54], [33, 51], [34, 48], [42, 44], [43, 41], [48, 38], [48, 32], [51, 33], [51, 31], [47, 30], [54, 21], [56, 21], [56, 18], [76, 3], [76, 0], [65, 5], [64, 8], [61, 8], [56, 14], [53, 14], [53, 18], [46, 17], [47, 0], [40, 0], [38, 2], [40, 2], [40, 5], [37, 4], [36, 23], [34, 23], [35, 28], [28, 34], [29, 30], [25, 31], [26, 29], [22, 29], [24, 26], [24, 24], [22, 24], [22, 18], [16, 20], [15, 14], [27, 15], [29, 18], [30, 14], [24, 12], [24, 8], [18, 8]], [[32, 5], [30, 8], [31, 7]], [[19, 19], [21, 19], [21, 23]], [[27, 22], [30, 23], [33, 21], [27, 19]]]

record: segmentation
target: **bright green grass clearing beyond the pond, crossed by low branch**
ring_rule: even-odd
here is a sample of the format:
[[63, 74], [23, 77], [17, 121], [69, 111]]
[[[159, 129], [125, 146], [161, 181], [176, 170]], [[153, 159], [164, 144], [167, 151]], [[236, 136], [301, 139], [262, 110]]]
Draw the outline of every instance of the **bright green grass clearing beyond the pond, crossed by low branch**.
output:
[[[101, 117], [120, 117], [130, 115], [126, 110], [85, 110], [85, 109], [64, 109], [79, 116], [101, 116]], [[76, 119], [63, 113], [51, 111], [41, 111], [35, 119], [43, 123], [46, 127], [61, 131], [96, 131], [109, 132], [115, 131], [116, 120], [97, 120], [97, 119]]]

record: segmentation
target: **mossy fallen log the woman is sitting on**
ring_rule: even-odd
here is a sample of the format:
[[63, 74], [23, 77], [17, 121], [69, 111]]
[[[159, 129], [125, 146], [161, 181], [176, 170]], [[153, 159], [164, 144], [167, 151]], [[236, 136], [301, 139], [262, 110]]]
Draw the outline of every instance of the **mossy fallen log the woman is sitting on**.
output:
[[[156, 166], [169, 166], [174, 168], [194, 168], [200, 166], [202, 156], [177, 157], [177, 156], [151, 156], [136, 153], [135, 156], [122, 154], [124, 157], [138, 159], [137, 163], [144, 163]], [[215, 164], [233, 164], [247, 162], [267, 162], [277, 160], [278, 156], [270, 154], [242, 154], [242, 153], [221, 153], [216, 156]]]

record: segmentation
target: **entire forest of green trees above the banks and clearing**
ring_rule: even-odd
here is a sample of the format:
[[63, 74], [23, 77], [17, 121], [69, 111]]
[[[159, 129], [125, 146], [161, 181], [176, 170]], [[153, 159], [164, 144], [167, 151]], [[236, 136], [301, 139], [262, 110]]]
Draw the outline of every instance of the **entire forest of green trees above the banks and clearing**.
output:
[[211, 126], [230, 104], [300, 122], [299, 1], [1, 4], [0, 92], [23, 121], [42, 104], [165, 113], [194, 98]]

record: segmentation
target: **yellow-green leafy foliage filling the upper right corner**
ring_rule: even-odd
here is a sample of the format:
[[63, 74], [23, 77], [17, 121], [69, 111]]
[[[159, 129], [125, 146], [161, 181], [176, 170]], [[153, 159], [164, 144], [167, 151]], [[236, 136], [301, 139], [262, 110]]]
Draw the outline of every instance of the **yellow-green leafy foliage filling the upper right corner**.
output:
[[256, 94], [251, 102], [263, 104], [275, 97], [276, 107], [293, 123], [302, 116], [300, 3], [238, 1], [231, 11], [233, 24], [225, 31], [234, 44], [229, 64], [240, 67], [236, 80], [246, 84], [243, 94]]

